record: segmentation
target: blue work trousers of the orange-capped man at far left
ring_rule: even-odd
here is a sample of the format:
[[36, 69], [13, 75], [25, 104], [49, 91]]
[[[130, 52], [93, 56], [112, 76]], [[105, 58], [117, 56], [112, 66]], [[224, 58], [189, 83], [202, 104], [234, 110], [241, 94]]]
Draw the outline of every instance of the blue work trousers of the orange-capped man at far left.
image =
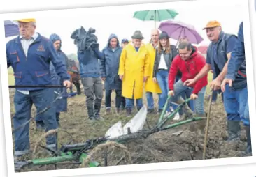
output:
[[[14, 106], [15, 116], [13, 117], [14, 129], [20, 127], [23, 123], [31, 117], [32, 104], [36, 106], [38, 111], [48, 107], [54, 100], [54, 93], [52, 88], [45, 88], [39, 91], [30, 91], [29, 95], [24, 95], [19, 91], [15, 91]], [[57, 128], [55, 118], [55, 107], [50, 107], [47, 111], [41, 114], [43, 123], [45, 125], [45, 132]], [[15, 155], [24, 155], [29, 153], [29, 123], [23, 128], [20, 128], [14, 133], [15, 136]], [[55, 148], [57, 139], [55, 135], [46, 137], [46, 144], [48, 148]]]

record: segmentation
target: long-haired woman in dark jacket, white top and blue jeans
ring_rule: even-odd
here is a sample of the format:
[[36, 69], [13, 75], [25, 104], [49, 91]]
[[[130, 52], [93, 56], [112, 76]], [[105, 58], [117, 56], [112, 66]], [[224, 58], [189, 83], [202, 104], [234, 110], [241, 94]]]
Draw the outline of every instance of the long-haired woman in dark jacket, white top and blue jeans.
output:
[[[177, 55], [177, 50], [174, 45], [170, 45], [168, 34], [163, 31], [158, 40], [156, 47], [155, 63], [153, 67], [153, 82], [158, 83], [162, 93], [159, 93], [159, 113], [164, 109], [165, 102], [168, 97], [168, 73], [171, 66], [171, 61]], [[170, 112], [170, 105], [166, 111]]]

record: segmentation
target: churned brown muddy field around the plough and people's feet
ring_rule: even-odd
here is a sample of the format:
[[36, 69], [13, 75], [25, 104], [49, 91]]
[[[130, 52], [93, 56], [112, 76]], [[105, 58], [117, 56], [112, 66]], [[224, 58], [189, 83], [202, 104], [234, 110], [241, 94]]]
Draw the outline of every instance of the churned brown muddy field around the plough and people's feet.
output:
[[[13, 108], [13, 94], [14, 90], [10, 90], [11, 112], [14, 113]], [[208, 93], [206, 93], [208, 95]], [[113, 93], [113, 98], [115, 93]], [[157, 103], [157, 96], [155, 96]], [[113, 99], [114, 100], [114, 99]], [[101, 116], [104, 118], [101, 121], [91, 122], [87, 118], [87, 110], [85, 106], [85, 95], [77, 95], [74, 98], [69, 98], [68, 112], [61, 114], [61, 130], [58, 135], [59, 144], [66, 144], [73, 139], [73, 143], [84, 142], [87, 139], [103, 137], [108, 128], [114, 123], [122, 120], [122, 125], [125, 125], [130, 118], [126, 117], [125, 111], [121, 114], [116, 114], [114, 109], [114, 101], [112, 101], [111, 115], [106, 115], [104, 109], [104, 101], [102, 102]], [[144, 100], [145, 103], [145, 100]], [[155, 104], [157, 105], [157, 104]], [[205, 101], [205, 111], [208, 109], [208, 101]], [[33, 108], [33, 113], [35, 109]], [[136, 114], [134, 111], [133, 114]], [[150, 127], [156, 125], [159, 115], [148, 115], [148, 123]], [[133, 164], [145, 164], [154, 162], [174, 162], [184, 160], [200, 160], [203, 154], [204, 146], [204, 125], [205, 122], [194, 122], [186, 125], [181, 125], [177, 128], [164, 130], [150, 135], [147, 139], [138, 139], [136, 141], [129, 141], [124, 144], [131, 156]], [[144, 126], [148, 128], [147, 125]], [[31, 151], [34, 150], [38, 137], [41, 137], [43, 132], [36, 130], [34, 122], [30, 124], [30, 143]], [[242, 128], [241, 141], [238, 143], [227, 143], [226, 118], [225, 111], [219, 95], [217, 104], [212, 105], [211, 121], [208, 135], [208, 146], [206, 151], [206, 158], [225, 158], [225, 157], [241, 157], [241, 152], [246, 149], [246, 136]], [[41, 144], [44, 144], [44, 140]], [[36, 157], [45, 157], [43, 151], [38, 148]], [[25, 160], [31, 158], [31, 154], [24, 157]], [[99, 156], [99, 155], [98, 155]], [[112, 156], [108, 158], [111, 160], [118, 160], [122, 156], [122, 152], [112, 152]], [[111, 159], [112, 158], [112, 159]], [[129, 164], [130, 162], [125, 162]], [[115, 163], [108, 163], [109, 165]], [[79, 165], [58, 165], [57, 169], [78, 168]], [[48, 165], [43, 167], [29, 167], [22, 169], [22, 171], [38, 171], [55, 169], [55, 165]]]

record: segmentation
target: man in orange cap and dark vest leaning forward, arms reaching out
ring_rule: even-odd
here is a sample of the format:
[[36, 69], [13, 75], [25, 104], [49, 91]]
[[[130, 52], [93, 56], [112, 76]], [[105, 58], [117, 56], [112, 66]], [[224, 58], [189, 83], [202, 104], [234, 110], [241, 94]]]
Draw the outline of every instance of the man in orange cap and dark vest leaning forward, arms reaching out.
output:
[[[206, 29], [208, 39], [211, 40], [207, 49], [206, 65], [194, 79], [189, 79], [184, 84], [187, 86], [194, 84], [212, 69], [215, 79], [211, 82], [210, 87], [215, 91], [220, 89], [221, 82], [227, 74], [227, 63], [237, 38], [235, 35], [223, 32], [220, 23], [217, 21], [208, 22], [204, 29]], [[227, 141], [240, 139], [241, 128], [239, 124], [239, 114], [237, 114], [236, 108], [229, 109], [229, 104], [231, 104], [233, 100], [234, 98], [230, 90], [226, 90], [224, 95], [224, 107], [227, 113], [227, 129], [229, 134]]]

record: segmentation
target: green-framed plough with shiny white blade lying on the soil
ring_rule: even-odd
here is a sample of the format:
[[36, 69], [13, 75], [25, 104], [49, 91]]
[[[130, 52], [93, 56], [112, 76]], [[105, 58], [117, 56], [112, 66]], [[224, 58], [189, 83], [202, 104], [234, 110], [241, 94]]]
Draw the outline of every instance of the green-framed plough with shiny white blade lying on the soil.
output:
[[[62, 146], [57, 150], [52, 150], [46, 148], [45, 146], [40, 146], [41, 148], [45, 148], [52, 154], [52, 157], [32, 159], [27, 161], [16, 161], [15, 162], [15, 170], [19, 171], [23, 167], [33, 167], [33, 166], [42, 166], [48, 164], [54, 164], [55, 169], [57, 169], [57, 165], [64, 164], [82, 164], [90, 157], [90, 152], [92, 152], [94, 148], [101, 144], [105, 144], [107, 142], [115, 142], [118, 144], [124, 144], [129, 140], [147, 138], [150, 134], [154, 134], [156, 132], [168, 130], [171, 128], [178, 127], [180, 125], [184, 125], [186, 123], [191, 123], [193, 121], [201, 121], [206, 119], [205, 117], [190, 117], [184, 121], [176, 121], [176, 123], [167, 124], [168, 121], [171, 121], [178, 111], [190, 101], [190, 98], [185, 100], [182, 104], [178, 105], [178, 107], [171, 112], [168, 116], [164, 116], [167, 108], [167, 103], [170, 101], [170, 96], [167, 98], [166, 103], [164, 105], [164, 109], [162, 111], [161, 116], [157, 122], [157, 125], [150, 128], [148, 125], [147, 129], [143, 129], [146, 120], [147, 109], [145, 105], [141, 108], [140, 111], [131, 118], [123, 128], [121, 122], [115, 123], [105, 134], [104, 137], [99, 137], [97, 139], [89, 139], [84, 143], [79, 144], [62, 144]], [[147, 122], [148, 123], [148, 122]], [[166, 125], [167, 124], [167, 125]], [[65, 163], [66, 162], [66, 163]], [[108, 156], [105, 153], [103, 162], [96, 162], [90, 158], [87, 160], [88, 167], [99, 167], [99, 166], [108, 166]], [[117, 164], [119, 164], [118, 162]]]

